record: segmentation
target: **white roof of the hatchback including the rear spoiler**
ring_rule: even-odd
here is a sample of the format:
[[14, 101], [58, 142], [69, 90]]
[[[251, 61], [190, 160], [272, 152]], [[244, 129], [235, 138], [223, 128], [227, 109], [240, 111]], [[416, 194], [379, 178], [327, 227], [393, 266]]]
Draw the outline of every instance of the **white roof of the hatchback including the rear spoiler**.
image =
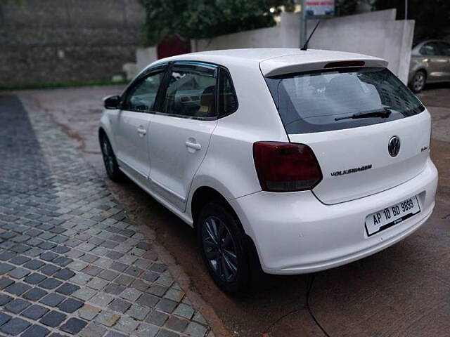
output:
[[[260, 67], [263, 74], [272, 76], [290, 71], [299, 71], [302, 65], [308, 69], [322, 68], [328, 62], [339, 62], [347, 60], [362, 60], [366, 66], [386, 67], [387, 61], [373, 56], [347, 53], [344, 51], [324, 51], [319, 49], [308, 49], [302, 51], [300, 48], [246, 48], [246, 49], [224, 49], [219, 51], [201, 51], [163, 58], [153, 63], [170, 62], [176, 60], [191, 60], [212, 62], [224, 67], [243, 65]], [[293, 69], [295, 66], [295, 69]]]

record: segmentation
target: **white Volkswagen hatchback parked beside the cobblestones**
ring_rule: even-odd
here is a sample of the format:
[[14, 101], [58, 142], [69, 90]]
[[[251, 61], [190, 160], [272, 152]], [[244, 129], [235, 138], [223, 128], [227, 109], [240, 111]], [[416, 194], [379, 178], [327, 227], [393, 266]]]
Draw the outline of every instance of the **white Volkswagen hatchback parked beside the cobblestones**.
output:
[[177, 55], [105, 98], [108, 176], [195, 227], [214, 281], [316, 272], [404, 239], [435, 206], [430, 114], [380, 58]]

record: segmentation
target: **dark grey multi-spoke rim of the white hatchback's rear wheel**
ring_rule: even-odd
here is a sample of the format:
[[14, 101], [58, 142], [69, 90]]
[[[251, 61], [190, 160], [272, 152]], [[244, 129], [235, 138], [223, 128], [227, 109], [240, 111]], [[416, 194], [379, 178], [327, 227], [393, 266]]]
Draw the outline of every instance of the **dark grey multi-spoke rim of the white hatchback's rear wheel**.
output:
[[228, 228], [219, 218], [209, 217], [205, 220], [203, 249], [217, 276], [225, 282], [231, 282], [238, 272], [236, 245]]

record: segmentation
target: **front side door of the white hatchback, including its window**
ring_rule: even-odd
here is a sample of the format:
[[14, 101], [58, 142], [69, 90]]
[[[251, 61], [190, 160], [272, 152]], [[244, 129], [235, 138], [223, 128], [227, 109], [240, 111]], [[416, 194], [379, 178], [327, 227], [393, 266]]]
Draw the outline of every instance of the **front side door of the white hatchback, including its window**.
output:
[[166, 67], [167, 65], [155, 67], [136, 79], [124, 94], [117, 116], [115, 135], [119, 165], [145, 185], [148, 185], [150, 173], [150, 119]]

